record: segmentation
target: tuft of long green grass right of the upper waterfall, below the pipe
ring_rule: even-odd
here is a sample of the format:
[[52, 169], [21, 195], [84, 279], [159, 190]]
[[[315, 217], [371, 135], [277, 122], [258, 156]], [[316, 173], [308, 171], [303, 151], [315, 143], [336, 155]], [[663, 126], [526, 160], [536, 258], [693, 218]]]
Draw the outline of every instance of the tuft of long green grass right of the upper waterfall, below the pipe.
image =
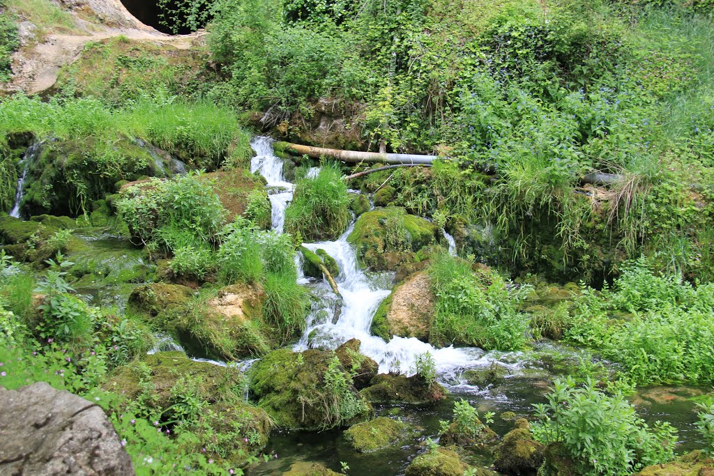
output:
[[302, 178], [285, 211], [285, 229], [306, 240], [334, 239], [350, 223], [350, 198], [340, 168], [324, 164], [314, 178]]

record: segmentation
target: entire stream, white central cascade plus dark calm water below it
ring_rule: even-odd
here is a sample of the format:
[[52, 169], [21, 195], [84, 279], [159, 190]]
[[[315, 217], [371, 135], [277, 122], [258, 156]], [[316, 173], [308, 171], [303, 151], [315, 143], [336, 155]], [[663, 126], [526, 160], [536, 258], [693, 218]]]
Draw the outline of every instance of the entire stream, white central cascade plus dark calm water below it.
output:
[[[273, 153], [271, 139], [253, 138], [251, 146], [257, 156], [251, 162], [251, 172], [260, 173], [268, 185], [269, 198], [273, 206], [272, 229], [283, 232], [285, 209], [293, 198], [293, 183], [283, 176], [283, 160]], [[308, 171], [315, 176], [318, 168]], [[352, 191], [355, 192], [355, 191]], [[350, 467], [349, 474], [399, 475], [403, 474], [414, 456], [424, 450], [427, 437], [438, 437], [438, 420], [449, 420], [455, 400], [464, 398], [478, 408], [479, 412], [496, 413], [496, 421], [491, 425], [499, 435], [504, 435], [513, 427], [513, 422], [501, 420], [498, 415], [512, 411], [518, 416], [531, 415], [533, 403], [545, 402], [545, 394], [555, 375], [568, 375], [578, 365], [578, 350], [558, 343], [537, 343], [526, 352], [485, 352], [480, 348], [433, 348], [416, 338], [394, 337], [388, 342], [370, 334], [374, 313], [391, 293], [391, 273], [368, 273], [358, 265], [355, 250], [347, 238], [353, 230], [354, 222], [337, 240], [318, 243], [303, 243], [306, 248], [325, 250], [339, 267], [335, 276], [338, 290], [343, 297], [343, 305], [338, 320], [333, 323], [333, 309], [336, 296], [325, 280], [304, 278], [298, 258], [298, 282], [313, 290], [319, 298], [313, 304], [307, 318], [307, 328], [293, 350], [308, 348], [335, 349], [352, 338], [361, 340], [361, 353], [373, 358], [381, 373], [398, 370], [403, 374], [413, 374], [416, 356], [429, 352], [436, 363], [438, 381], [449, 390], [447, 400], [435, 407], [377, 407], [378, 415], [400, 417], [416, 428], [408, 440], [386, 450], [361, 454], [348, 445], [339, 430], [321, 433], [273, 432], [266, 452], [276, 453], [277, 459], [261, 462], [248, 470], [249, 475], [280, 475], [290, 470], [304, 469], [308, 462], [321, 462], [332, 470], [340, 470], [341, 462]], [[453, 237], [443, 231], [449, 245], [449, 252], [456, 254]], [[469, 383], [467, 375], [471, 370], [484, 370], [497, 366], [504, 370], [503, 378], [496, 378], [484, 385]], [[648, 389], [641, 390], [633, 397], [640, 415], [650, 425], [655, 420], [668, 420], [680, 430], [679, 452], [701, 446], [694, 431], [694, 397], [706, 391], [698, 388], [655, 388], [650, 397]], [[645, 396], [642, 396], [645, 395]], [[488, 452], [476, 454], [470, 461], [473, 465], [488, 465]]]

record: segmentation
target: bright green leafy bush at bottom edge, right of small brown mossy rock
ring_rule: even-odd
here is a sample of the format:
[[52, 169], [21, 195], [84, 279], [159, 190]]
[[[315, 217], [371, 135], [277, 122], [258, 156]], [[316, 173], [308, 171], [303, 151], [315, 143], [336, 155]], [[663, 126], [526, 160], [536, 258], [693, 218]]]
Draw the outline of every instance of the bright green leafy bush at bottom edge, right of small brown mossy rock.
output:
[[676, 430], [666, 422], [650, 428], [621, 393], [606, 395], [588, 380], [555, 380], [548, 403], [534, 405], [533, 435], [557, 443], [583, 475], [630, 475], [674, 457]]

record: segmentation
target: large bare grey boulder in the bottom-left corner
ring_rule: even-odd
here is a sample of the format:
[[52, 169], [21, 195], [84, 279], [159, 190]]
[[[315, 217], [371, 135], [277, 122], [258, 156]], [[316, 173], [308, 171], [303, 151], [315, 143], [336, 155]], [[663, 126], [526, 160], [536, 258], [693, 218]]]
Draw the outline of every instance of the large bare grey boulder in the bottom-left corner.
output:
[[0, 474], [134, 475], [101, 407], [44, 382], [0, 387]]

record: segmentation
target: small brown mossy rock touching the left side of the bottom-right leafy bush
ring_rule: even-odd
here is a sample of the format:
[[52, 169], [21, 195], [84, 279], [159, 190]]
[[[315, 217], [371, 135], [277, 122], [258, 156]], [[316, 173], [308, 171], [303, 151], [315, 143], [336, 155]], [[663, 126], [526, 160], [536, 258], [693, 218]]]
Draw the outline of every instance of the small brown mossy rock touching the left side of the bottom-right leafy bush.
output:
[[493, 465], [507, 475], [532, 474], [543, 463], [544, 450], [540, 442], [533, 440], [528, 421], [521, 419], [498, 445]]

